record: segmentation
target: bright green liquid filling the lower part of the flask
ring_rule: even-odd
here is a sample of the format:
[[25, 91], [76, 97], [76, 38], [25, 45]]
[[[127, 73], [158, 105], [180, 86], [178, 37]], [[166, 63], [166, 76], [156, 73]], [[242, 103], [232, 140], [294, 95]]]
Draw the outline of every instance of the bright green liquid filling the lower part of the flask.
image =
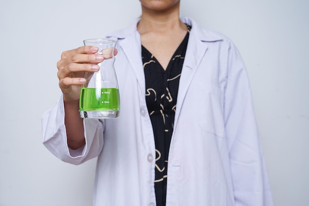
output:
[[[119, 90], [117, 88], [81, 88], [79, 98], [80, 111], [119, 110]], [[97, 98], [98, 96], [98, 98]]]

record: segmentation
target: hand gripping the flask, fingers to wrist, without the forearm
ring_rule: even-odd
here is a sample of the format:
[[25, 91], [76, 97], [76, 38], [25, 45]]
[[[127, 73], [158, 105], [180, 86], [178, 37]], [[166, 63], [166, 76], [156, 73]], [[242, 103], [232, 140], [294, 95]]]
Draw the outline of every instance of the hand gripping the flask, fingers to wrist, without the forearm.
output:
[[[64, 51], [57, 63], [59, 87], [63, 93], [64, 102], [77, 102], [79, 99], [80, 87], [86, 81], [85, 72], [97, 72], [98, 63], [108, 56], [95, 54], [98, 52], [96, 46], [81, 46], [76, 49]], [[115, 49], [114, 55], [117, 54]]]

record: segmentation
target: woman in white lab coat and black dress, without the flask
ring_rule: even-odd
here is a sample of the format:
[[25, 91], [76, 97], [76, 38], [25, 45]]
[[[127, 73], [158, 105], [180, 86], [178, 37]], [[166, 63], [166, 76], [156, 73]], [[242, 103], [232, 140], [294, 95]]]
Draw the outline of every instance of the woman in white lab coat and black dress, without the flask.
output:
[[[83, 72], [96, 47], [63, 52], [63, 98], [43, 116], [61, 160], [98, 157], [94, 206], [272, 206], [248, 78], [226, 37], [179, 18], [180, 0], [140, 0], [117, 38], [117, 119], [79, 118]], [[108, 38], [109, 38], [108, 37]]]

